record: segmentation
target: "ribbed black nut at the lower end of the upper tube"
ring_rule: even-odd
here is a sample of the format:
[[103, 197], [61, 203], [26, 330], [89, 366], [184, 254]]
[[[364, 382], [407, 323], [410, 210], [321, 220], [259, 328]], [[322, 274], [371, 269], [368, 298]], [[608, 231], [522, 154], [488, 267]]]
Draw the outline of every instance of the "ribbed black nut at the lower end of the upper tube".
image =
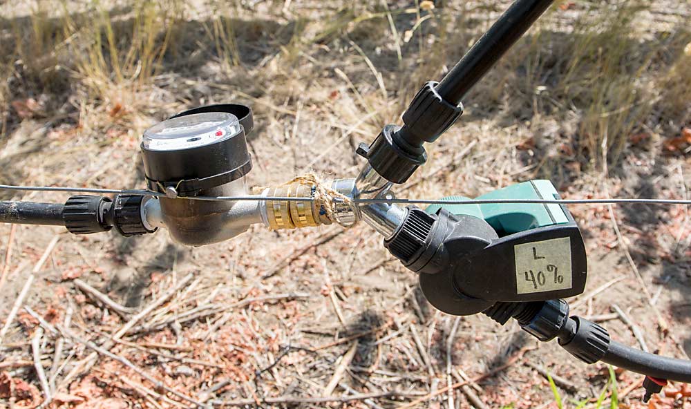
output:
[[[463, 113], [462, 105], [449, 104], [437, 93], [437, 84], [439, 83], [435, 81], [424, 84], [403, 114], [403, 122], [406, 124], [404, 131], [415, 135], [415, 140], [420, 143], [437, 140]], [[413, 142], [410, 135], [409, 143]]]

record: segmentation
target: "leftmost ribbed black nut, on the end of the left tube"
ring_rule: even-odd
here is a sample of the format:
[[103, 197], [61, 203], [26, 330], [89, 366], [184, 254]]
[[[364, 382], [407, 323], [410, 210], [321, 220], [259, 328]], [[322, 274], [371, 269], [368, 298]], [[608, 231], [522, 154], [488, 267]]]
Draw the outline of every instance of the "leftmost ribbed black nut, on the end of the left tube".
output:
[[108, 231], [112, 226], [104, 221], [104, 209], [111, 202], [101, 196], [72, 196], [65, 202], [62, 220], [72, 234], [92, 234]]

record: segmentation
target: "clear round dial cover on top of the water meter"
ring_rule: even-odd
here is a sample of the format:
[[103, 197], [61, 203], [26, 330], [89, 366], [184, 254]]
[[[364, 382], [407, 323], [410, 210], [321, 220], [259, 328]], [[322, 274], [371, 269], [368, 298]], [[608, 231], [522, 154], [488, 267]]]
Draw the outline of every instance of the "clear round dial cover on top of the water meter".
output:
[[240, 133], [235, 115], [196, 113], [159, 122], [144, 131], [142, 144], [151, 151], [179, 151], [226, 140]]

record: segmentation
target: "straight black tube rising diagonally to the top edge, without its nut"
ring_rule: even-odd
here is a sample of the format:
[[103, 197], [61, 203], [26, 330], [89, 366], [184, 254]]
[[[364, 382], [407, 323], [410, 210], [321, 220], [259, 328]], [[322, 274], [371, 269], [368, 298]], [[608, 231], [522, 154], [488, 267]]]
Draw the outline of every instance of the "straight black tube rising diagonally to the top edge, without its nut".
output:
[[516, 0], [437, 85], [437, 93], [459, 104], [475, 83], [513, 46], [553, 0]]

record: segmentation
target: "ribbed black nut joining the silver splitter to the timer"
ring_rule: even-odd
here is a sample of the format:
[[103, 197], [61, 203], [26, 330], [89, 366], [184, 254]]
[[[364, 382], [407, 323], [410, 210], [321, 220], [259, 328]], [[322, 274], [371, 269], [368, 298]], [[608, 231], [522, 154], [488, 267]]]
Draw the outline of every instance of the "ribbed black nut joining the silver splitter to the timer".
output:
[[419, 254], [429, 236], [435, 218], [417, 207], [408, 207], [408, 214], [401, 227], [392, 238], [384, 242], [384, 247], [405, 265]]

